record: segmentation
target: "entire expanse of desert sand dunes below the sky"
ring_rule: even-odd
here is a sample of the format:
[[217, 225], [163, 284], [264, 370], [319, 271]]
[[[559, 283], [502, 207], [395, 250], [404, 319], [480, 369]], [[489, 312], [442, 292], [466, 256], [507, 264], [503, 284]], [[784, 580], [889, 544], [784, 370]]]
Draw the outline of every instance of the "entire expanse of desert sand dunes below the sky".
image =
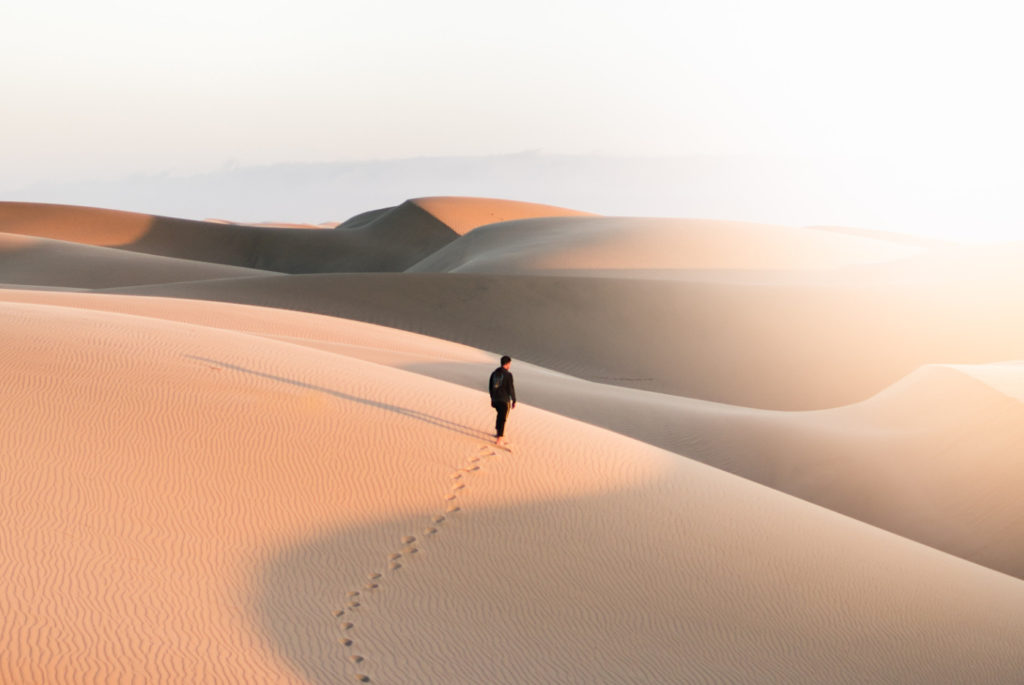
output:
[[0, 203], [0, 682], [1018, 682], [1021, 251]]

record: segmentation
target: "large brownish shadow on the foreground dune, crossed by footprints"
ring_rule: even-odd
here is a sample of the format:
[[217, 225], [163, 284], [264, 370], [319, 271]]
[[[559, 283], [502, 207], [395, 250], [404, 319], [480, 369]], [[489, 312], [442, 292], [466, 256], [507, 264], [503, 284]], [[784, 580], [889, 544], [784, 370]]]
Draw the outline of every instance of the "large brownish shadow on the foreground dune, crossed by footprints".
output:
[[[965, 605], [936, 614], [944, 575], [908, 580], [899, 564], [859, 569], [864, 545], [901, 559], [932, 558], [915, 546], [882, 545], [866, 527], [848, 544], [800, 523], [827, 548], [830, 561], [819, 566], [819, 552], [809, 552], [802, 534], [767, 534], [780, 525], [773, 517], [735, 547], [723, 546], [736, 536], [730, 516], [701, 516], [681, 545], [683, 514], [638, 529], [642, 519], [631, 514], [649, 491], [623, 486], [466, 507], [450, 514], [457, 524], [436, 524], [418, 540], [420, 553], [394, 570], [388, 553], [407, 532], [420, 534], [412, 526], [430, 525], [432, 512], [329, 528], [256, 567], [246, 609], [275, 655], [313, 685], [353, 682], [356, 674], [371, 683], [496, 685], [835, 682], [837, 673], [851, 683], [877, 682], [880, 674], [939, 682], [965, 676], [975, 658], [998, 662], [993, 673], [1004, 678], [1019, 668], [1017, 652], [985, 631], [949, 641]], [[761, 561], [744, 561], [750, 555]], [[1004, 577], [968, 565], [962, 571]], [[1006, 589], [1007, 581], [997, 585]], [[361, 591], [354, 600], [353, 590]], [[902, 611], [882, 611], [897, 601]], [[865, 602], [872, 607], [866, 617]], [[972, 619], [990, 610], [979, 607]], [[903, 612], [930, 616], [914, 624], [912, 639]], [[1012, 613], [1008, 607], [1000, 615]], [[901, 648], [893, 648], [893, 634]], [[557, 647], [544, 648], [553, 636]], [[970, 645], [950, 648], [959, 641]], [[980, 651], [967, 658], [972, 650]]]

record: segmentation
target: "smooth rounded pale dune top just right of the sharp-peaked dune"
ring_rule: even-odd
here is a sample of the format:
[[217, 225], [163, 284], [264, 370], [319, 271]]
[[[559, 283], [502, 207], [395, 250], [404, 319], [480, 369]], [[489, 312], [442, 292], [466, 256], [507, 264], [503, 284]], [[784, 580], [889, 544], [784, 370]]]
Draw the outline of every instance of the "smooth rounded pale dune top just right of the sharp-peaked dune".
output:
[[482, 226], [409, 270], [829, 269], [922, 250], [849, 233], [736, 221], [564, 217]]

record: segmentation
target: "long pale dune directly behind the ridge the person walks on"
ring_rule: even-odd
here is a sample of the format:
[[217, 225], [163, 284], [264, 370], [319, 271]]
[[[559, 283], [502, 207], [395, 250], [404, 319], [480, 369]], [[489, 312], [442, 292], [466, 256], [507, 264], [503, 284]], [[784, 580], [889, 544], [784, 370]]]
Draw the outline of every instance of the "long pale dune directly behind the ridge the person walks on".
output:
[[[497, 353], [376, 326], [222, 303], [7, 292], [246, 331], [415, 371], [472, 389]], [[686, 455], [776, 489], [1024, 576], [1024, 367], [929, 367], [859, 404], [764, 412], [595, 384], [520, 361], [531, 405]]]

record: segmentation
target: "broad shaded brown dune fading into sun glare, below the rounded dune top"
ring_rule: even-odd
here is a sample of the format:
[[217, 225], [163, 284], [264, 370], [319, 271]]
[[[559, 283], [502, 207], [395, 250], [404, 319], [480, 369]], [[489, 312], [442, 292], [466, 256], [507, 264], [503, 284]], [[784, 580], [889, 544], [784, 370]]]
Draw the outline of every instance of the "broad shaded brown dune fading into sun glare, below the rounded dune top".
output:
[[1024, 288], [1015, 286], [1022, 281], [773, 285], [375, 273], [117, 292], [356, 318], [507, 350], [602, 383], [811, 410], [859, 401], [928, 363], [1024, 357], [1024, 320], [1008, 315], [1024, 308]]

